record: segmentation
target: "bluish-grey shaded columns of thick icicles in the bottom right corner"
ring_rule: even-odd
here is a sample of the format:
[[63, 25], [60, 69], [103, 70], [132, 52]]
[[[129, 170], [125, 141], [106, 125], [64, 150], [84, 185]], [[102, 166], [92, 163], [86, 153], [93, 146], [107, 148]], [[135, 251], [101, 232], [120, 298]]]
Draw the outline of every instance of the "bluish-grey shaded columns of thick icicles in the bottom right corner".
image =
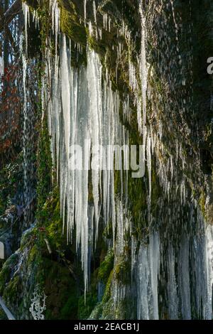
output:
[[161, 307], [163, 303], [169, 319], [212, 320], [213, 227], [205, 227], [197, 208], [197, 217], [189, 218], [187, 229], [182, 230], [178, 244], [158, 230], [151, 231], [149, 244], [139, 249], [133, 238], [131, 267], [138, 319], [163, 316], [159, 312], [159, 303]]

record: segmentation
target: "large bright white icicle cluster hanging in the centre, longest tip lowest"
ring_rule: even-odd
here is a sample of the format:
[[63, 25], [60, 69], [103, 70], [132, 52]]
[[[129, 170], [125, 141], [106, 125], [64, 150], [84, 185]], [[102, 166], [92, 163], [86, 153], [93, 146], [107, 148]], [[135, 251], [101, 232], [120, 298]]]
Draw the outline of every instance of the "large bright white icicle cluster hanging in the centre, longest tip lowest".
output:
[[[76, 228], [76, 244], [77, 249], [81, 249], [87, 287], [89, 244], [97, 241], [101, 208], [106, 226], [111, 221], [115, 230], [116, 224], [114, 171], [100, 171], [102, 168], [98, 168], [111, 166], [111, 161], [108, 161], [106, 152], [99, 153], [98, 161], [90, 152], [98, 145], [126, 144], [128, 134], [119, 122], [119, 95], [111, 90], [110, 85], [102, 85], [99, 56], [88, 49], [87, 68], [72, 68], [66, 38], [61, 36], [60, 39], [60, 68], [53, 61], [53, 72], [50, 73], [53, 78], [49, 104], [52, 150], [56, 153], [58, 165], [63, 226], [65, 229], [67, 217], [69, 241], [72, 240], [74, 226]], [[72, 170], [70, 166], [70, 147], [73, 145], [84, 148], [82, 171]], [[89, 165], [93, 159], [97, 170], [91, 171], [92, 193], [89, 193]], [[92, 201], [89, 200], [91, 197]]]

